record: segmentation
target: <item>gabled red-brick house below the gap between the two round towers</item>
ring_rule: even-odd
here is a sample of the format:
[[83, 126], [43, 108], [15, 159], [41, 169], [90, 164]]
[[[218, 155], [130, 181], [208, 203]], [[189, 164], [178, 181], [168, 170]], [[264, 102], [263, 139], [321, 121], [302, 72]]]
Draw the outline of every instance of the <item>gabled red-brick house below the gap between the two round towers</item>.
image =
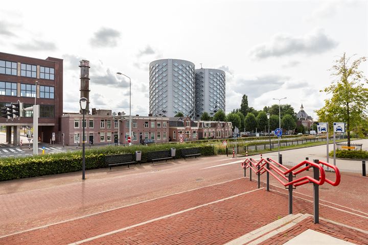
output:
[[189, 116], [170, 117], [169, 132], [169, 141], [198, 140], [198, 122], [191, 120]]

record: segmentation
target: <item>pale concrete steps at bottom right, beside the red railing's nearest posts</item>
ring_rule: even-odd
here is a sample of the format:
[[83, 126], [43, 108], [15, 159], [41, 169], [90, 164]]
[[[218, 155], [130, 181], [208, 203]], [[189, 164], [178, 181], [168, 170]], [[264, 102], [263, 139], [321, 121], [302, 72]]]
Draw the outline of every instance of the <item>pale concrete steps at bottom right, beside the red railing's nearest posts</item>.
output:
[[289, 214], [268, 225], [258, 228], [257, 230], [251, 231], [241, 237], [229, 241], [226, 245], [259, 244], [262, 241], [293, 227], [309, 216], [310, 214]]

